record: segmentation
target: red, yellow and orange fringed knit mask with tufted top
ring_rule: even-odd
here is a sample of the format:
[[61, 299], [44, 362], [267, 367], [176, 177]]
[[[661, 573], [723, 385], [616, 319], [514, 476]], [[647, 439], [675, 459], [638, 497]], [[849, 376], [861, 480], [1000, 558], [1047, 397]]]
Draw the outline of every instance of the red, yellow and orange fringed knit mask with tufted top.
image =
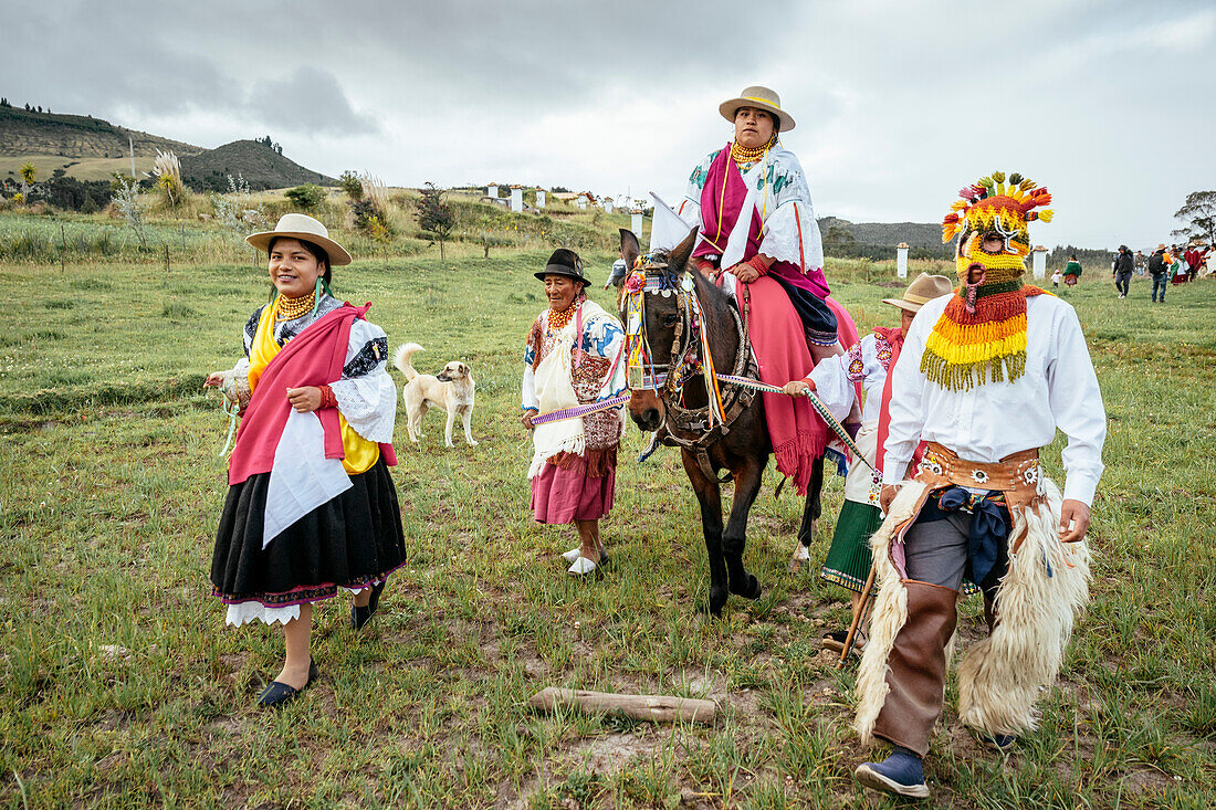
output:
[[[921, 371], [944, 388], [966, 390], [985, 382], [1013, 382], [1026, 370], [1026, 297], [1043, 291], [1021, 282], [1030, 254], [1028, 224], [1051, 221], [1047, 189], [1020, 174], [980, 178], [958, 192], [941, 221], [941, 241], [958, 236], [959, 286], [925, 342]], [[985, 237], [998, 237], [995, 252]], [[970, 280], [976, 269], [976, 279]]]

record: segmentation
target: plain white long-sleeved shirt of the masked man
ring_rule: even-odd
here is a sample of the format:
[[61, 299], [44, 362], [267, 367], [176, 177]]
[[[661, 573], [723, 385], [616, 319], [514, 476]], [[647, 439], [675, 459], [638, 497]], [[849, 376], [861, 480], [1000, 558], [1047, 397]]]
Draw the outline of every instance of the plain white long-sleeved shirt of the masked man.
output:
[[921, 371], [925, 339], [950, 299], [922, 306], [903, 342], [906, 358], [891, 377], [883, 483], [899, 483], [921, 439], [968, 461], [995, 462], [1051, 444], [1059, 428], [1068, 437], [1060, 454], [1064, 497], [1092, 504], [1103, 469], [1107, 411], [1076, 311], [1051, 294], [1026, 299], [1025, 373], [1013, 383], [950, 390]]

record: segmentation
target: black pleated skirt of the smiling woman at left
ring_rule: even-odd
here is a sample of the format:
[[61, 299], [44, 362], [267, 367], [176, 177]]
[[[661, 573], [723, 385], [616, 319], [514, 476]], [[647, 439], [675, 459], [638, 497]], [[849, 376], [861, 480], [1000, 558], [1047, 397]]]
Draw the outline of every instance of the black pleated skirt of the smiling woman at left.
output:
[[381, 459], [353, 486], [261, 547], [270, 473], [229, 488], [212, 556], [214, 595], [227, 604], [288, 607], [333, 596], [338, 587], [382, 581], [405, 563], [401, 510]]

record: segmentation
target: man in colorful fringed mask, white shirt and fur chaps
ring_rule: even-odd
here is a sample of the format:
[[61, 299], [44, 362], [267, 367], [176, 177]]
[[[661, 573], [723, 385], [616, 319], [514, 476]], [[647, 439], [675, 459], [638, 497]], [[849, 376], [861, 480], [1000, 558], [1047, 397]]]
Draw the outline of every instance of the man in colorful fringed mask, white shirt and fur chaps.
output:
[[[961, 285], [921, 309], [893, 372], [886, 518], [872, 539], [880, 591], [857, 674], [856, 729], [893, 749], [855, 776], [917, 798], [929, 794], [922, 758], [964, 579], [984, 591], [990, 635], [959, 664], [959, 719], [1002, 750], [1035, 727], [1035, 699], [1088, 598], [1085, 534], [1107, 435], [1076, 313], [1021, 280], [1028, 224], [1051, 220], [1051, 195], [995, 171], [961, 197], [942, 221], [944, 241], [958, 236]], [[1038, 460], [1057, 428], [1068, 437], [1063, 495]]]

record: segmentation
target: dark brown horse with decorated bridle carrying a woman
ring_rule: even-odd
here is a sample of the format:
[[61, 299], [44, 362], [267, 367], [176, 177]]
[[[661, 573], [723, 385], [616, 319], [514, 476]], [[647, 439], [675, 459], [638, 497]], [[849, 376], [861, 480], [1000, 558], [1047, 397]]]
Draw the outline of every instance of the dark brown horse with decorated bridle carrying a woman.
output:
[[[641, 254], [637, 237], [621, 229], [621, 254], [626, 266], [635, 266]], [[687, 306], [677, 289], [691, 282], [700, 308], [700, 328], [705, 331], [714, 366], [720, 372], [734, 376], [758, 377], [758, 369], [747, 345], [743, 324], [730, 296], [704, 279], [699, 272], [685, 272], [688, 257], [696, 243], [697, 232], [671, 251], [660, 251], [649, 257], [652, 266], [646, 270], [649, 286], [655, 292], [642, 294], [644, 308], [644, 334], [653, 353], [655, 369], [668, 373], [668, 381], [655, 389], [630, 389], [629, 412], [643, 431], [665, 428], [668, 439], [680, 446], [685, 472], [692, 483], [700, 505], [702, 529], [709, 555], [709, 612], [720, 615], [730, 594], [748, 600], [760, 596], [760, 581], [743, 566], [747, 542], [748, 512], [760, 491], [761, 477], [772, 452], [769, 427], [765, 421], [764, 398], [739, 386], [725, 383], [721, 389], [726, 423], [711, 424], [709, 398], [700, 375], [693, 375], [680, 387], [680, 365], [691, 353], [699, 351], [699, 342], [691, 339], [693, 331], [688, 322]], [[689, 281], [685, 281], [685, 280]], [[664, 294], [663, 291], [666, 291]], [[624, 311], [627, 293], [623, 291], [623, 321], [629, 326], [629, 314]], [[693, 348], [698, 347], [698, 348]], [[666, 364], [663, 361], [666, 360]], [[634, 381], [631, 381], [632, 383]], [[728, 478], [720, 479], [719, 469], [726, 469]], [[721, 483], [734, 480], [734, 499], [731, 514], [722, 527]], [[805, 557], [814, 527], [820, 517], [820, 490], [823, 485], [823, 459], [815, 461], [811, 483], [807, 488], [803, 522], [798, 530], [799, 547]], [[799, 555], [795, 553], [795, 558]]]

